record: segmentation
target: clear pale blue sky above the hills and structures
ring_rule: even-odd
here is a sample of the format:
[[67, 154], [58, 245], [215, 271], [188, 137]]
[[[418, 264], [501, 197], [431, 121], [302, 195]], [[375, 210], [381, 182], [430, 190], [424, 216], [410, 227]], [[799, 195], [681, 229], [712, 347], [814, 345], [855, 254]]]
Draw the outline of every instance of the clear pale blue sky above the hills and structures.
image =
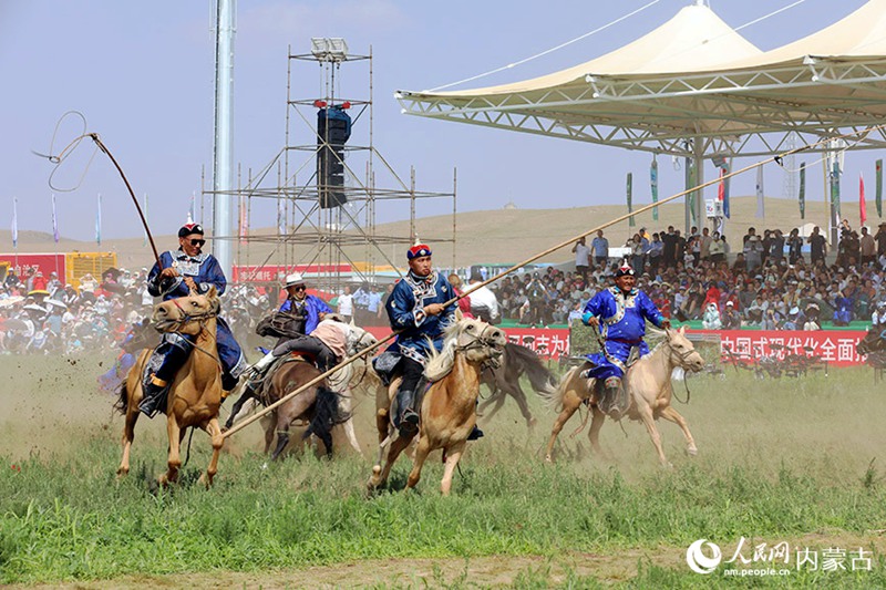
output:
[[[625, 175], [632, 172], [635, 203], [648, 203], [648, 154], [410, 117], [400, 114], [393, 100], [395, 90], [434, 87], [490, 71], [646, 3], [240, 0], [235, 41], [235, 161], [246, 174], [249, 167], [261, 168], [284, 145], [287, 48], [307, 53], [311, 37], [343, 37], [354, 53], [368, 53], [372, 46], [374, 144], [403, 178], [409, 178], [409, 167], [414, 165], [420, 189], [449, 190], [452, 169], [457, 167], [460, 210], [495, 209], [508, 201], [521, 208], [574, 207], [622, 203]], [[517, 81], [595, 58], [652, 30], [688, 3], [661, 0], [601, 33], [473, 85]], [[733, 27], [791, 3], [711, 2]], [[806, 0], [742, 34], [763, 50], [772, 49], [863, 3]], [[59, 117], [71, 110], [82, 112], [89, 131], [101, 134], [140, 197], [150, 195], [153, 231], [173, 232], [184, 221], [192, 193], [200, 190], [202, 166], [207, 175], [212, 168], [210, 7], [210, 0], [0, 0], [0, 79], [4, 81], [0, 227], [10, 227], [12, 198], [18, 197], [19, 229], [51, 230], [48, 180], [52, 167], [31, 151], [50, 149]], [[353, 74], [347, 68], [353, 68]], [[343, 73], [351, 76], [346, 87], [362, 95], [365, 69], [346, 66]], [[292, 85], [293, 95], [318, 95], [319, 68], [301, 69]], [[74, 125], [68, 127], [61, 130], [56, 144], [68, 143], [78, 133]], [[351, 143], [367, 142], [365, 127], [356, 126]], [[303, 142], [311, 139], [306, 135]], [[141, 235], [125, 188], [109, 162], [96, 156], [81, 182], [91, 155], [92, 147], [84, 143], [54, 179], [58, 185], [78, 186], [71, 193], [56, 193], [62, 235], [93, 238], [99, 193], [104, 204], [103, 237]], [[873, 187], [876, 157], [880, 154], [847, 156], [844, 198], [856, 194], [859, 170]], [[660, 195], [680, 190], [682, 172], [673, 170], [669, 158], [660, 161]], [[712, 168], [705, 175], [710, 178]], [[765, 183], [767, 195], [781, 196], [783, 176], [777, 169], [767, 169]], [[736, 179], [733, 195], [750, 195], [753, 185], [753, 175]], [[812, 200], [822, 199], [821, 183], [811, 183], [807, 192]], [[450, 209], [450, 203], [427, 201], [418, 213]], [[408, 217], [408, 207], [379, 211], [379, 221]], [[253, 225], [274, 225], [270, 204], [255, 207]]]

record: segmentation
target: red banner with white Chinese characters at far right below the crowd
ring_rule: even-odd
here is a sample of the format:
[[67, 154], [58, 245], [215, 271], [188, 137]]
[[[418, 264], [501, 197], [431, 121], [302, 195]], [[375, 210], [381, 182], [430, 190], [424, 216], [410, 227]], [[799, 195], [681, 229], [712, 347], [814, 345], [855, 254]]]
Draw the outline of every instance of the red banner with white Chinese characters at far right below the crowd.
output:
[[[821, 330], [814, 332], [770, 330], [693, 330], [715, 333], [721, 338], [720, 346], [739, 359], [760, 363], [763, 359], [783, 361], [787, 354], [816, 356], [834, 366], [862, 364], [864, 358], [855, 352], [855, 345], [867, 332], [854, 330]], [[808, 349], [808, 350], [807, 350]]]

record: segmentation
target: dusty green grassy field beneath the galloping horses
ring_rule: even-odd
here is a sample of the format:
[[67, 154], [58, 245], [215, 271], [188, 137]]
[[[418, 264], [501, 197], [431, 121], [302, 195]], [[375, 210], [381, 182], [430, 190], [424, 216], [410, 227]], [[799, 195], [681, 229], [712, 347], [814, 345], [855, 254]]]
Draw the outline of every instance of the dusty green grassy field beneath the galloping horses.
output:
[[[140, 422], [133, 472], [117, 482], [122, 418], [95, 392], [96, 358], [0, 358], [0, 583], [53, 587], [886, 587], [886, 398], [862, 369], [806, 380], [694, 377], [677, 404], [699, 456], [661, 424], [672, 469], [658, 466], [641, 425], [608, 423], [611, 459], [588, 453], [586, 434], [562, 436], [558, 460], [542, 459], [553, 413], [532, 400], [527, 435], [516, 405], [485, 425], [439, 493], [439, 454], [416, 493], [367, 498], [370, 459], [300, 453], [265, 465], [259, 434], [236, 437], [217, 485], [196, 484], [208, 460], [194, 437], [184, 482], [152, 485], [165, 466], [165, 427]], [[730, 370], [731, 371], [731, 370]], [[682, 386], [677, 392], [683, 397]], [[372, 402], [356, 408], [358, 436], [373, 456]], [[343, 448], [343, 447], [342, 447]], [[784, 577], [692, 572], [687, 547], [717, 542], [729, 559], [787, 542]], [[870, 570], [797, 569], [795, 548], [870, 551]], [[752, 563], [743, 568], [769, 567]], [[779, 566], [774, 566], [779, 567]], [[187, 578], [183, 576], [187, 572]], [[186, 582], [187, 581], [187, 582]]]

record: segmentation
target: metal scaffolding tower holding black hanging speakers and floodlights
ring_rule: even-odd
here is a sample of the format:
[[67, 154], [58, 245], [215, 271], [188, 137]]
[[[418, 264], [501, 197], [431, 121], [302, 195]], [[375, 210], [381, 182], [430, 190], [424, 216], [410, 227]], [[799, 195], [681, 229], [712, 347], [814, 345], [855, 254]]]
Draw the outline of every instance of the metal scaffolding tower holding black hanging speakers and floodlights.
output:
[[[349, 54], [341, 39], [315, 39], [307, 54], [288, 52], [286, 139], [284, 147], [257, 174], [247, 178], [238, 174], [238, 188], [230, 192], [239, 203], [239, 245], [236, 250], [235, 282], [270, 280], [269, 275], [299, 270], [312, 286], [339, 291], [347, 283], [380, 282], [379, 272], [390, 277], [403, 265], [402, 251], [419, 236], [415, 231], [416, 208], [425, 199], [451, 199], [452, 234], [421, 236], [424, 241], [452, 242], [455, 251], [456, 176], [452, 192], [416, 189], [415, 170], [404, 182], [375, 148], [373, 143], [372, 52]], [[320, 69], [320, 91], [303, 97], [308, 68]], [[358, 66], [368, 70], [368, 89], [362, 97], [347, 94], [359, 91], [351, 80], [344, 81]], [[293, 89], [298, 86], [298, 91]], [[330, 145], [317, 128], [321, 108], [347, 110], [353, 122], [351, 141]], [[316, 165], [321, 151], [337, 152], [343, 166], [343, 186], [330, 187]], [[343, 197], [344, 204], [329, 206], [329, 192]], [[204, 190], [204, 195], [214, 195]], [[254, 199], [277, 201], [277, 228], [268, 231], [248, 229]], [[258, 205], [260, 201], [256, 201]], [[403, 219], [409, 207], [409, 229], [401, 235], [377, 231], [375, 216], [384, 209], [387, 218]], [[275, 277], [276, 280], [277, 277]]]

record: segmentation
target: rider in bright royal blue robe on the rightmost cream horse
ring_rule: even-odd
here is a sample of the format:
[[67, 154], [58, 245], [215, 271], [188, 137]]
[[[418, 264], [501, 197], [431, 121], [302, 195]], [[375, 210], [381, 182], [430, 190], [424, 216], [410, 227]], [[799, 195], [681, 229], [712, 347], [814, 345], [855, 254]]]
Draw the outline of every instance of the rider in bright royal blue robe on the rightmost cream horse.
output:
[[605, 342], [601, 352], [587, 355], [593, 366], [584, 371], [581, 376], [596, 379], [597, 382], [602, 380], [600, 410], [619, 420], [630, 403], [621, 383], [628, 359], [635, 349], [639, 356], [649, 354], [649, 346], [643, 341], [646, 321], [666, 329], [671, 327], [671, 322], [661, 314], [649, 296], [635, 288], [637, 278], [630, 266], [625, 263], [616, 271], [615, 282], [615, 287], [599, 291], [585, 306], [581, 321], [595, 330], [599, 329]]

